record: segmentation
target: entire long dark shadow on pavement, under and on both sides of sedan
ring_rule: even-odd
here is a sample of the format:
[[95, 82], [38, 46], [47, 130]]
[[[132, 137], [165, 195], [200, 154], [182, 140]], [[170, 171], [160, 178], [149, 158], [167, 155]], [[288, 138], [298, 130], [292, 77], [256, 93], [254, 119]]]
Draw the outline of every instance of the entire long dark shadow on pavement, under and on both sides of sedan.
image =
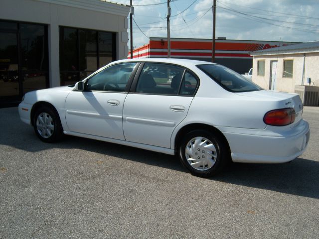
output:
[[[17, 113], [16, 108], [12, 109]], [[66, 136], [58, 143], [44, 143], [36, 137], [33, 128], [22, 123], [15, 113], [13, 116], [3, 115], [3, 110], [0, 115], [0, 144], [9, 146], [3, 147], [4, 151], [12, 151], [10, 147], [28, 152], [51, 148], [79, 149], [186, 172], [177, 157], [129, 146], [73, 136]], [[5, 110], [4, 113], [13, 112], [11, 109]], [[297, 158], [284, 164], [234, 163], [225, 172], [209, 180], [319, 199], [318, 172], [318, 161]]]

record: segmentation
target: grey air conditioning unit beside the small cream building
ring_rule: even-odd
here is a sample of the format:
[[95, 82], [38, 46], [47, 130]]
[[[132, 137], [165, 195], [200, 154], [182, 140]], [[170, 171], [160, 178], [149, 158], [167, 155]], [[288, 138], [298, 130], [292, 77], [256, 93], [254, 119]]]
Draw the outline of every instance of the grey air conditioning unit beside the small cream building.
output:
[[319, 86], [295, 86], [304, 106], [319, 106]]

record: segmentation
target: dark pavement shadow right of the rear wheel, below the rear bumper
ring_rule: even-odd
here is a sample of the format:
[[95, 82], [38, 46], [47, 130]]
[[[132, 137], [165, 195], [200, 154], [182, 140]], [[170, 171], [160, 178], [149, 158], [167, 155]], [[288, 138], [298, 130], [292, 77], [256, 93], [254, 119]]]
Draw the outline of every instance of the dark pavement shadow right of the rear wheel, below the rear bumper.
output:
[[319, 199], [319, 162], [297, 158], [282, 164], [233, 163], [212, 180]]

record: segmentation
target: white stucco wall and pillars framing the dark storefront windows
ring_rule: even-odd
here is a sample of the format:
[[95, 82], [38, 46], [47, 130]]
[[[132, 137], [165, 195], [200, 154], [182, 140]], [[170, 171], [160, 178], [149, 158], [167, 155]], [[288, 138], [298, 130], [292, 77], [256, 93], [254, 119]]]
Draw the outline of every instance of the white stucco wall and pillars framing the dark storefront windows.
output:
[[117, 59], [128, 54], [129, 7], [101, 0], [0, 0], [0, 19], [48, 25], [50, 87], [60, 85], [59, 26], [117, 33]]

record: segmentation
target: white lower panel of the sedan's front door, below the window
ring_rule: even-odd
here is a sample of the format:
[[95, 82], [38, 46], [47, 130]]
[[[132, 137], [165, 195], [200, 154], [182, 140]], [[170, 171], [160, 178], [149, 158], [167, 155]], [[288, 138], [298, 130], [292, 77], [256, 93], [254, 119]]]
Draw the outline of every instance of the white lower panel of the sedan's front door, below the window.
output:
[[[69, 130], [125, 140], [122, 120], [126, 96], [126, 93], [71, 92], [65, 101]], [[109, 104], [112, 102], [114, 105]]]

